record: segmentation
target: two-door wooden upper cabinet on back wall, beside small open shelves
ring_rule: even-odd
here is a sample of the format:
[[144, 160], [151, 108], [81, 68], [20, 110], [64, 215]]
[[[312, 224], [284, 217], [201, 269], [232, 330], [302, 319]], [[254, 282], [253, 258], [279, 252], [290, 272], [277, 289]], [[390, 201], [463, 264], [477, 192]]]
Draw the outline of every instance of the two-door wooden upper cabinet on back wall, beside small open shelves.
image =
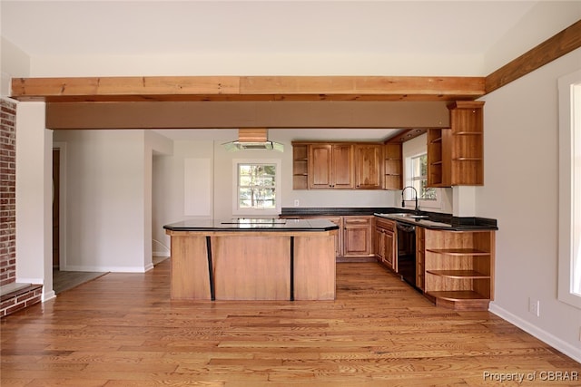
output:
[[310, 189], [353, 189], [353, 146], [309, 145], [309, 175]]

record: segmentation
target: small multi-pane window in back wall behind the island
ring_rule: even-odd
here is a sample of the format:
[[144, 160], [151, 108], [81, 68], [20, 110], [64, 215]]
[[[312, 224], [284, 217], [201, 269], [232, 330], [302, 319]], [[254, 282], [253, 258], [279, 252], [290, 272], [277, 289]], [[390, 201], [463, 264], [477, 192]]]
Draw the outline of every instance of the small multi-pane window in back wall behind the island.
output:
[[234, 160], [236, 205], [238, 214], [277, 214], [281, 207], [279, 193], [280, 162], [278, 160]]

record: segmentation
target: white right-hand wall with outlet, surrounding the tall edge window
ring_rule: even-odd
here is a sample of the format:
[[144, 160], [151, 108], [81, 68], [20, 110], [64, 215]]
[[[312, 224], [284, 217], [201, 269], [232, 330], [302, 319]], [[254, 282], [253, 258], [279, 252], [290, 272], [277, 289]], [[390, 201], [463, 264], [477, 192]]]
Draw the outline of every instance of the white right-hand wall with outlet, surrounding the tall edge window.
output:
[[[556, 299], [557, 79], [581, 69], [581, 49], [488, 94], [485, 182], [478, 215], [497, 218], [494, 313], [581, 362], [581, 310]], [[540, 316], [528, 312], [540, 301]]]

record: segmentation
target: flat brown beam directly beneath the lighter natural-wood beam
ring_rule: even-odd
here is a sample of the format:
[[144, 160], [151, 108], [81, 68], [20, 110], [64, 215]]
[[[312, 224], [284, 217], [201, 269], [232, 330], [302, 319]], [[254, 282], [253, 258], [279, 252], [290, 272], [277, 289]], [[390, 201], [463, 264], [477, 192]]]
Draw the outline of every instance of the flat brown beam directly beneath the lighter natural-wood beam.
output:
[[47, 102], [46, 128], [447, 128], [447, 102]]

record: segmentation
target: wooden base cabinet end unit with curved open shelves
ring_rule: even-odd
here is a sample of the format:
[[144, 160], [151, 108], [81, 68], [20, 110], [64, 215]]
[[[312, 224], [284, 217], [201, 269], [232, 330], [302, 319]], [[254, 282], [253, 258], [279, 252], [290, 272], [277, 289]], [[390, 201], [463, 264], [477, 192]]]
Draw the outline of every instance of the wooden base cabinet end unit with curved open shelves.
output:
[[424, 294], [436, 305], [487, 310], [494, 299], [495, 232], [435, 229], [422, 232]]

